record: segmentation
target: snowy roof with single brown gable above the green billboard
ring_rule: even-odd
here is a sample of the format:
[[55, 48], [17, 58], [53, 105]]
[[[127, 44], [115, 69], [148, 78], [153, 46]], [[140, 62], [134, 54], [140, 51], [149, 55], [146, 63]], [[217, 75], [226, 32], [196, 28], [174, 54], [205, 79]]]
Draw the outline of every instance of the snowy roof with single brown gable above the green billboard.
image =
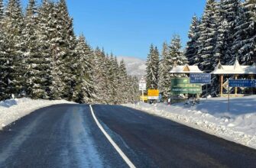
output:
[[198, 66], [189, 66], [186, 64], [185, 66], [174, 66], [173, 69], [170, 70], [170, 73], [203, 73]]

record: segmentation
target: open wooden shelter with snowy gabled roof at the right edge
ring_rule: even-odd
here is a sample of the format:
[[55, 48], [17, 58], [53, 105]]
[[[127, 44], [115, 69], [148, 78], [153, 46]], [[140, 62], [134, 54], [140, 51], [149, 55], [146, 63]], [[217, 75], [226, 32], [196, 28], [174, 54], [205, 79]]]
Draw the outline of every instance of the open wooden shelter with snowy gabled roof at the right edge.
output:
[[[212, 71], [212, 74], [219, 75], [220, 82], [220, 96], [223, 97], [223, 90], [228, 90], [228, 80], [224, 81], [225, 76], [229, 76], [233, 79], [238, 79], [238, 76], [248, 76], [249, 79], [254, 79], [256, 75], [256, 64], [252, 66], [241, 66], [238, 60], [235, 60], [234, 65], [232, 66], [223, 66], [220, 62], [215, 69]], [[238, 88], [235, 88], [235, 96], [238, 95]], [[242, 96], [242, 95], [241, 95]]]

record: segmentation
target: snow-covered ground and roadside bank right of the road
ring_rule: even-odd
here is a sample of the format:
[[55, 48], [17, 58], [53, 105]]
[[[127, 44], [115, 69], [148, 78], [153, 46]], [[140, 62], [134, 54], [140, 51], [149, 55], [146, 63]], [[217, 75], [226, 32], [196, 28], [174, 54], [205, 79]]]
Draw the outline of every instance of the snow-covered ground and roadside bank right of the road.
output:
[[256, 95], [231, 99], [211, 98], [198, 105], [125, 105], [152, 115], [177, 121], [189, 127], [256, 149]]

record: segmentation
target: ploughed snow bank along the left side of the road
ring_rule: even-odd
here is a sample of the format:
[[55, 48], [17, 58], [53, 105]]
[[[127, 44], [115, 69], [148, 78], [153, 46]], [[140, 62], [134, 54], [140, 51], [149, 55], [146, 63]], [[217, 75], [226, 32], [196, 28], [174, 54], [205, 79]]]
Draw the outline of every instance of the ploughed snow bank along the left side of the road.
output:
[[72, 103], [65, 100], [32, 100], [32, 99], [10, 99], [0, 102], [0, 130], [11, 122], [30, 114], [39, 108], [49, 105]]

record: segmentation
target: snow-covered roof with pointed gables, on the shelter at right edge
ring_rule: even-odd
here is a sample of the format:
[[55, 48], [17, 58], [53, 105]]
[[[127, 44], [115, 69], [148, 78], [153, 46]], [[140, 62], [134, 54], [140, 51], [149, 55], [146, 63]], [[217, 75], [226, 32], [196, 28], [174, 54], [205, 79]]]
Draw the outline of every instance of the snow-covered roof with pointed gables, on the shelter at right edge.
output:
[[254, 63], [252, 66], [241, 66], [238, 60], [235, 60], [234, 65], [232, 66], [223, 66], [220, 62], [215, 67], [212, 74], [217, 75], [225, 75], [225, 74], [232, 74], [232, 75], [240, 75], [240, 74], [256, 74], [256, 64]]

